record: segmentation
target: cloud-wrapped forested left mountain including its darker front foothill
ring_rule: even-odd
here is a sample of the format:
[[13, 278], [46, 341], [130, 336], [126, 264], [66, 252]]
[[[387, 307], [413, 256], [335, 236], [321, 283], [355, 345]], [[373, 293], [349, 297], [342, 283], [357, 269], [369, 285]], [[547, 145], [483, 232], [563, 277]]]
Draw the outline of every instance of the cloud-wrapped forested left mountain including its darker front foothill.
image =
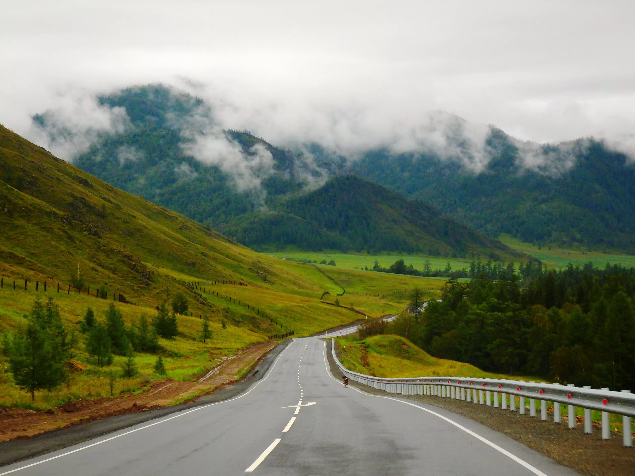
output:
[[[76, 166], [252, 248], [471, 253], [493, 260], [521, 256], [421, 202], [340, 176], [344, 159], [323, 154], [318, 146], [307, 148], [309, 160], [247, 131], [214, 128], [213, 110], [185, 93], [144, 86], [99, 102], [123, 108], [128, 122], [102, 133], [74, 157]], [[64, 136], [50, 112], [34, 122]], [[335, 178], [326, 182], [329, 176]]]

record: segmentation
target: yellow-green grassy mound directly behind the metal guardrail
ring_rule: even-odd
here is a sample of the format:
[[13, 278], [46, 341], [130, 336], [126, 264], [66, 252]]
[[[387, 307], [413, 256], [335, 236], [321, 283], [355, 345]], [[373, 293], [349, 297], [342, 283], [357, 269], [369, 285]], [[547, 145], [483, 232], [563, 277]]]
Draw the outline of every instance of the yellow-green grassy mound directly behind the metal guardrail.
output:
[[[400, 336], [378, 335], [362, 341], [351, 334], [335, 339], [339, 352], [339, 359], [347, 369], [373, 375], [380, 378], [411, 378], [411, 377], [473, 377], [473, 378], [505, 378], [521, 381], [544, 381], [541, 378], [527, 376], [509, 376], [482, 371], [464, 362], [437, 359], [424, 350], [418, 348], [409, 340]], [[520, 404], [516, 398], [516, 408]], [[526, 400], [526, 405], [529, 405]], [[540, 411], [541, 400], [536, 400], [536, 410]], [[567, 406], [561, 405], [561, 414], [567, 414]], [[547, 402], [547, 411], [553, 413], [553, 403]], [[584, 418], [584, 409], [576, 407], [577, 419]], [[591, 420], [598, 423], [602, 420], [601, 411], [592, 411]], [[578, 421], [578, 424], [581, 421]], [[622, 416], [610, 415], [611, 430], [622, 432]]]

